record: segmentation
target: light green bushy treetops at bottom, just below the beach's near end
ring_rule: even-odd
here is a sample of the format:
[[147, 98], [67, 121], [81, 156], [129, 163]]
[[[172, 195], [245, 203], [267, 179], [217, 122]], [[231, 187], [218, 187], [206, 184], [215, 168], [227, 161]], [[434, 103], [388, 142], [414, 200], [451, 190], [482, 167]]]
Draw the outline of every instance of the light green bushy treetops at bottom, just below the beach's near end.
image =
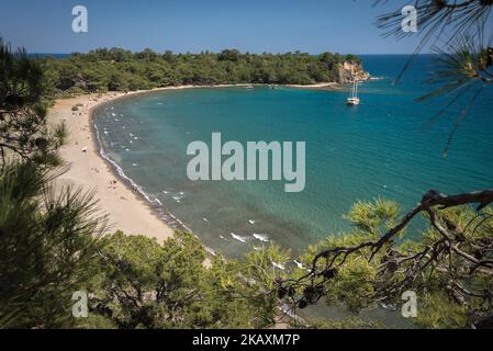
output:
[[117, 328], [253, 328], [273, 322], [276, 298], [270, 254], [246, 262], [216, 257], [211, 268], [194, 236], [177, 233], [159, 245], [141, 236], [116, 233], [100, 250], [98, 273], [88, 285], [91, 320]]

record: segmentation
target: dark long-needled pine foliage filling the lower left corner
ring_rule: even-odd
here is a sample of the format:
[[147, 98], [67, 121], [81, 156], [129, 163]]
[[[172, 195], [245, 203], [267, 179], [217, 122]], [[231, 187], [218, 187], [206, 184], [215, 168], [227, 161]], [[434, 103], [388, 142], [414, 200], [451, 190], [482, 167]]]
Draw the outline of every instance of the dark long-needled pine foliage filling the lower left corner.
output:
[[0, 327], [69, 327], [71, 294], [91, 275], [104, 218], [92, 194], [63, 189], [37, 165], [0, 173]]

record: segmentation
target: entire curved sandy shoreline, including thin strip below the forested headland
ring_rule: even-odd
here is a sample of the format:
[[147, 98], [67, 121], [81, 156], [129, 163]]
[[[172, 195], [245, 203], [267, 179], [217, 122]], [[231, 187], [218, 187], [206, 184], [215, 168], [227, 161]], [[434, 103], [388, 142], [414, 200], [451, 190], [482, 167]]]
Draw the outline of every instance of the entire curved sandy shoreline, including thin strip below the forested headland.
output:
[[[60, 155], [70, 166], [70, 169], [57, 179], [57, 185], [82, 186], [85, 191], [96, 190], [98, 205], [108, 215], [108, 233], [122, 230], [126, 235], [143, 235], [156, 238], [158, 241], [173, 236], [175, 230], [192, 231], [176, 218], [173, 214], [163, 210], [161, 206], [145, 194], [138, 184], [126, 177], [119, 165], [105, 154], [94, 125], [94, 112], [102, 106], [120, 99], [142, 94], [186, 89], [216, 89], [235, 87], [264, 87], [265, 84], [217, 84], [217, 86], [179, 86], [139, 90], [132, 92], [105, 92], [79, 95], [75, 98], [58, 99], [49, 110], [48, 123], [65, 123], [69, 139]], [[282, 86], [296, 89], [333, 90], [338, 83], [318, 83], [311, 86]], [[79, 105], [79, 111], [72, 106]], [[160, 204], [159, 204], [160, 205]], [[214, 250], [206, 248], [214, 254]]]

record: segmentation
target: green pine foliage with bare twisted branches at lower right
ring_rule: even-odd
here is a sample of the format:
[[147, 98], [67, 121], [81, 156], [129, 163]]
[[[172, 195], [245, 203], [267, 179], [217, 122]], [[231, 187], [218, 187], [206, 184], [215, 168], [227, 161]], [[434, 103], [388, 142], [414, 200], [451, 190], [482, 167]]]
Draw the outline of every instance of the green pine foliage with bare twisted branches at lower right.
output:
[[[306, 276], [303, 269], [294, 270], [282, 290], [293, 290], [290, 297], [304, 307], [324, 297], [329, 305], [343, 305], [352, 312], [377, 307], [378, 302], [400, 306], [402, 293], [413, 291], [418, 297], [418, 318], [424, 328], [468, 328], [472, 320], [493, 313], [493, 280], [488, 269], [471, 270], [462, 256], [448, 256], [442, 234], [433, 227], [414, 234], [415, 240], [386, 242], [379, 251], [365, 246], [379, 239], [396, 225], [399, 206], [378, 199], [358, 202], [345, 216], [354, 229], [330, 236], [309, 247], [299, 258], [312, 268], [318, 258], [320, 268], [310, 285], [298, 285]], [[493, 210], [478, 215], [472, 208], [457, 206], [441, 210], [439, 220], [457, 240], [457, 248], [478, 260], [491, 260]], [[382, 231], [383, 230], [383, 231]], [[415, 229], [416, 230], [416, 229]], [[359, 249], [348, 253], [348, 248]], [[320, 252], [339, 249], [339, 254], [320, 256]], [[326, 269], [323, 269], [326, 268]], [[330, 268], [330, 269], [327, 269]], [[311, 298], [306, 292], [311, 292]], [[313, 297], [313, 294], [315, 296]]]

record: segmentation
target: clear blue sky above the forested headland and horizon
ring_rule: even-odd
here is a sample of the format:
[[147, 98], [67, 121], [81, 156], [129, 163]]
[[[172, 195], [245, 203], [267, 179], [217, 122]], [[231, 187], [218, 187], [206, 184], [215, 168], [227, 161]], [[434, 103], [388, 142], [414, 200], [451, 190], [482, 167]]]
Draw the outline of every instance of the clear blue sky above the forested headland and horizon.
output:
[[[2, 0], [0, 35], [31, 53], [115, 46], [180, 53], [223, 48], [251, 53], [411, 53], [417, 38], [397, 42], [381, 37], [374, 21], [385, 8], [372, 8], [372, 3], [373, 0]], [[89, 33], [71, 31], [71, 9], [78, 4], [88, 8]]]

